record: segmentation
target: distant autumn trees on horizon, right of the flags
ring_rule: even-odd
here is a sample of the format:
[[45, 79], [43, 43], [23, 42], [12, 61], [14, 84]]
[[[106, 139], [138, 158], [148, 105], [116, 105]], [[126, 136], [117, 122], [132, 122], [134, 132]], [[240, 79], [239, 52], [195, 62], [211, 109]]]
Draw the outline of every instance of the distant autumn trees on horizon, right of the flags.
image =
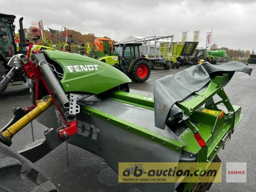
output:
[[[218, 49], [217, 44], [212, 44], [211, 49]], [[235, 59], [243, 59], [243, 58], [249, 58], [250, 57], [250, 50], [241, 50], [241, 49], [229, 49], [228, 47], [221, 47], [220, 49], [226, 50], [227, 56], [234, 56]]]

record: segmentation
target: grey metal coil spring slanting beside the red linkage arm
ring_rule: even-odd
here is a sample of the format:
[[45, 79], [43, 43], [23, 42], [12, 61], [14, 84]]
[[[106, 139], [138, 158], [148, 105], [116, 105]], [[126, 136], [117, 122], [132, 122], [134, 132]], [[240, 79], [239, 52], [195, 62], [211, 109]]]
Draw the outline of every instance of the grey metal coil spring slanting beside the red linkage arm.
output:
[[60, 105], [62, 105], [64, 108], [68, 108], [67, 105], [69, 103], [68, 97], [63, 91], [62, 87], [60, 86], [59, 81], [55, 77], [55, 75], [52, 72], [52, 68], [50, 67], [49, 63], [44, 63], [41, 65], [41, 72], [43, 73], [45, 79], [51, 86], [52, 90], [55, 92]]

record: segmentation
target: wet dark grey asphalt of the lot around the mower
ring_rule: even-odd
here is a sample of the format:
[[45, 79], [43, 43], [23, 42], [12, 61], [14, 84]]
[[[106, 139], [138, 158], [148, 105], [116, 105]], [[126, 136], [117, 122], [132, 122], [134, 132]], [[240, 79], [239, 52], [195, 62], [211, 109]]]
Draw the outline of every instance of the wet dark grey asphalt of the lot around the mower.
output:
[[[242, 106], [245, 115], [232, 134], [231, 141], [225, 150], [220, 150], [219, 157], [222, 161], [222, 183], [213, 183], [210, 191], [255, 191], [256, 184], [256, 65], [252, 76], [236, 72], [225, 91], [232, 104]], [[152, 70], [151, 76], [146, 83], [131, 83], [130, 88], [153, 92], [157, 79], [169, 74], [175, 74], [187, 67], [180, 69]], [[3, 127], [12, 117], [12, 108], [27, 107], [31, 105], [29, 90], [25, 86], [9, 86], [0, 97], [0, 127]], [[44, 140], [44, 126], [33, 121], [35, 143]], [[11, 148], [18, 151], [33, 146], [30, 124], [17, 133], [12, 139]], [[54, 149], [48, 155], [35, 164], [45, 172], [60, 192], [137, 192], [138, 189], [130, 184], [118, 183], [118, 176], [105, 161], [84, 149], [69, 145], [69, 164], [66, 167], [65, 143]], [[226, 163], [246, 162], [247, 182], [226, 183]]]

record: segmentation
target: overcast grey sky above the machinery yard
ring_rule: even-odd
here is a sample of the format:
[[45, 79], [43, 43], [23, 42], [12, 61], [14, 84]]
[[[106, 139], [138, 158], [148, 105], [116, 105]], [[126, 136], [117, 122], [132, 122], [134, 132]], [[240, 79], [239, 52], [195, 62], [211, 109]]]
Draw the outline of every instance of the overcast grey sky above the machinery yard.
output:
[[200, 30], [199, 46], [205, 47], [206, 32], [213, 29], [212, 43], [218, 47], [256, 49], [254, 0], [0, 0], [0, 12], [24, 17], [25, 28], [43, 20], [44, 28], [62, 26], [82, 34], [109, 36], [117, 41], [130, 35], [174, 35]]

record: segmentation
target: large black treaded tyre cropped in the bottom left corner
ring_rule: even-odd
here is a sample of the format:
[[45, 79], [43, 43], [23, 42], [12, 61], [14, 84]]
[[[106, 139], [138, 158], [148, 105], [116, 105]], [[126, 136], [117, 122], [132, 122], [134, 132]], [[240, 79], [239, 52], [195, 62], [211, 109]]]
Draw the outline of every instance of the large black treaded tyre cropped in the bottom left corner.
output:
[[0, 191], [57, 192], [36, 165], [0, 143]]

